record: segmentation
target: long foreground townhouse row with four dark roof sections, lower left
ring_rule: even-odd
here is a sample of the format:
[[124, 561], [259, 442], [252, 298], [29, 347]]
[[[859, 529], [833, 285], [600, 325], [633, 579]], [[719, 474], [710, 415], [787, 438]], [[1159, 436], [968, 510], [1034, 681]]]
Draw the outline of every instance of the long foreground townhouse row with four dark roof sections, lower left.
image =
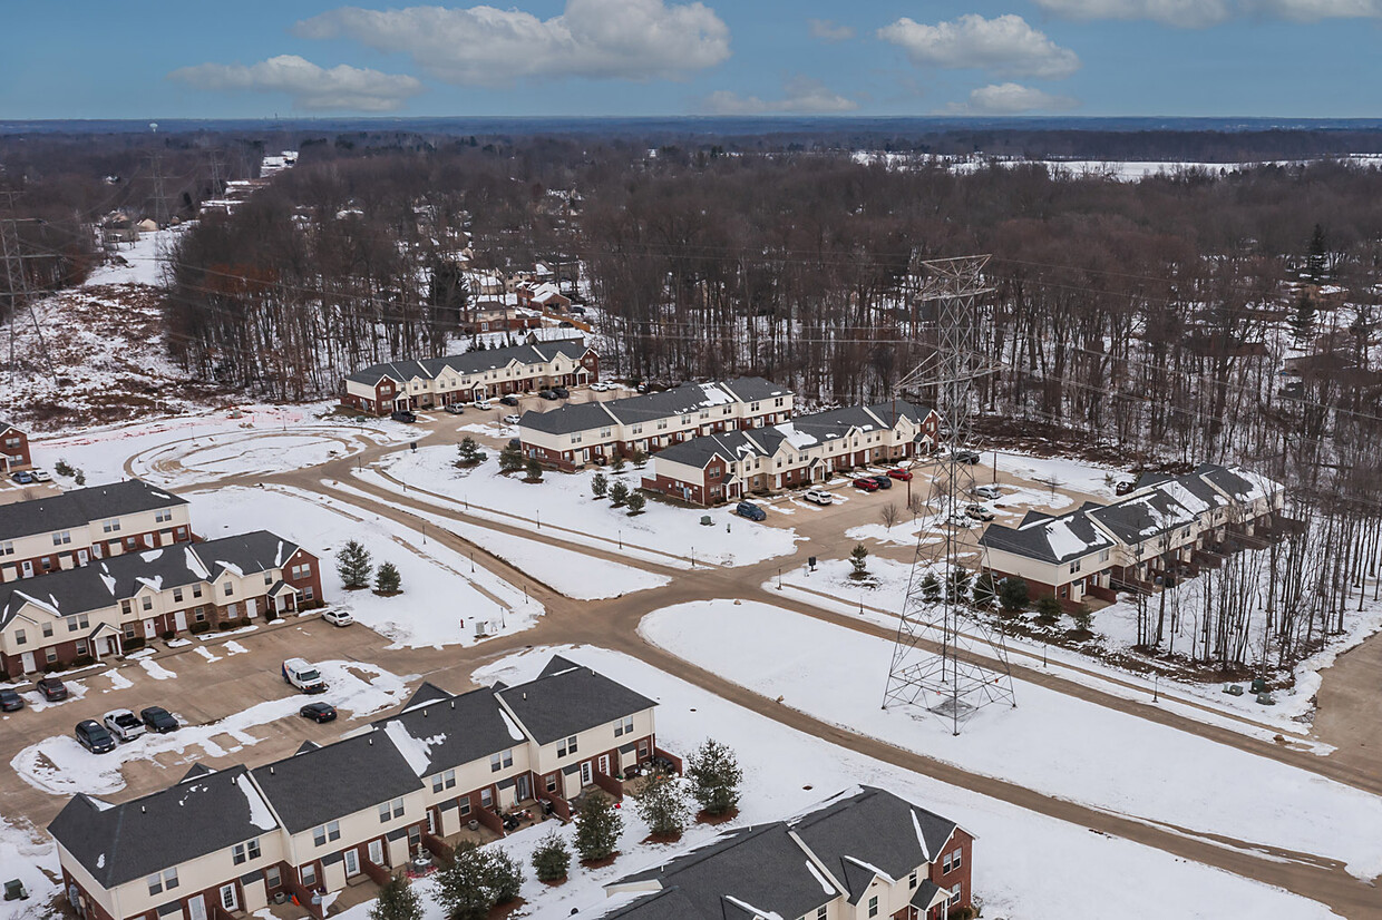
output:
[[264, 767], [198, 765], [120, 804], [77, 794], [48, 832], [83, 920], [227, 920], [285, 895], [322, 917], [332, 892], [387, 881], [470, 822], [503, 836], [528, 803], [568, 815], [652, 760], [654, 707], [558, 656], [514, 687], [423, 685], [401, 714]]

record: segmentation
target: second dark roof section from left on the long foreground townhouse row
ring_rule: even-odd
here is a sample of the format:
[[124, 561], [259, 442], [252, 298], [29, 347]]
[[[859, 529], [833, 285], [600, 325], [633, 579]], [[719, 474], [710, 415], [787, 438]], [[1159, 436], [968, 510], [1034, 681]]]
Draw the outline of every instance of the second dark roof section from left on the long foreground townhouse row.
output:
[[423, 780], [390, 740], [369, 732], [253, 771], [289, 833], [373, 808]]

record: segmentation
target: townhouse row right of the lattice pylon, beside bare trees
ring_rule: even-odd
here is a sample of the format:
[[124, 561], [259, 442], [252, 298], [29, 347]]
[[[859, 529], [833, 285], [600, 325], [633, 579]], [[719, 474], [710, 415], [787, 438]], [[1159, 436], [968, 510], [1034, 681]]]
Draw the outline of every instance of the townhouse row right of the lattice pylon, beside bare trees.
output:
[[1020, 577], [1030, 597], [1067, 609], [1118, 590], [1147, 593], [1164, 579], [1218, 566], [1230, 540], [1262, 544], [1285, 489], [1242, 470], [1202, 464], [1182, 477], [1143, 475], [1113, 504], [1089, 501], [1057, 517], [1031, 511], [1010, 528], [990, 524], [980, 537], [996, 577]]

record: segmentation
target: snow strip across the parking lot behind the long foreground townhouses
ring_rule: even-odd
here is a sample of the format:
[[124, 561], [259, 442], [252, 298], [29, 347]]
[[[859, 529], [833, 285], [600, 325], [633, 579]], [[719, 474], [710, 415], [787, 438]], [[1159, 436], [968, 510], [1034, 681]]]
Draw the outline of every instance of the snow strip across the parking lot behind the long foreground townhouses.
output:
[[[141, 662], [149, 664], [151, 662]], [[408, 698], [408, 682], [416, 675], [398, 677], [365, 662], [318, 662], [328, 691], [316, 696], [294, 693], [256, 703], [234, 716], [207, 725], [184, 725], [167, 735], [145, 734], [106, 754], [93, 754], [70, 735], [54, 735], [29, 745], [10, 760], [10, 767], [30, 786], [54, 796], [84, 792], [93, 796], [124, 789], [120, 768], [134, 760], [189, 764], [202, 757], [224, 757], [242, 747], [257, 745], [253, 729], [278, 718], [297, 714], [314, 700], [325, 700], [350, 718], [399, 706]], [[170, 706], [176, 713], [176, 703]]]

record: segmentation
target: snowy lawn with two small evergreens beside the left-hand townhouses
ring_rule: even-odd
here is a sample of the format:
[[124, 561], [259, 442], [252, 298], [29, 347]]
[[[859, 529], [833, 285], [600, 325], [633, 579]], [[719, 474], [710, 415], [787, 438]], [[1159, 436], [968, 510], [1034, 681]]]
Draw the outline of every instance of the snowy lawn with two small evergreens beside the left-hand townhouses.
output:
[[[322, 565], [328, 602], [350, 611], [359, 623], [404, 648], [471, 645], [475, 624], [491, 635], [528, 629], [542, 605], [513, 586], [426, 535], [362, 511], [346, 501], [275, 486], [195, 492], [192, 521], [209, 539], [267, 529], [305, 546]], [[347, 591], [336, 572], [336, 553], [359, 540], [375, 565], [392, 562], [404, 593], [379, 597]]]

